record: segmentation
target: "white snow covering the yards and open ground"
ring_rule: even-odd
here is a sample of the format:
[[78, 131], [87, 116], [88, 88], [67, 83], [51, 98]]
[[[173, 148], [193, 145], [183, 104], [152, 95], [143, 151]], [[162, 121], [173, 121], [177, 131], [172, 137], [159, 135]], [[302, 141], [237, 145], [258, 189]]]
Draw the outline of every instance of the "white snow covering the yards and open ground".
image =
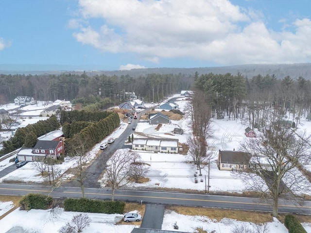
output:
[[[176, 96], [175, 96], [176, 97]], [[182, 98], [181, 98], [182, 99]], [[186, 101], [181, 100], [176, 101], [179, 105], [181, 111], [187, 104]], [[0, 108], [4, 108], [2, 105]], [[33, 105], [32, 105], [33, 106]], [[151, 105], [150, 105], [151, 106]], [[29, 106], [28, 108], [30, 108]], [[42, 107], [42, 106], [41, 106]], [[149, 107], [149, 105], [148, 105]], [[35, 106], [33, 106], [35, 108]], [[8, 108], [9, 109], [9, 108]], [[28, 111], [37, 111], [35, 109], [28, 109]], [[22, 117], [22, 116], [21, 116]], [[42, 117], [37, 117], [42, 119]], [[32, 117], [24, 117], [21, 119], [20, 123], [25, 126], [31, 122], [35, 123], [37, 119]], [[22, 121], [24, 120], [24, 121]], [[36, 120], [36, 121], [35, 121]], [[176, 127], [176, 124], [184, 129], [183, 135], [168, 135], [165, 133], [171, 133]], [[240, 121], [233, 120], [217, 120], [212, 119], [212, 131], [213, 137], [208, 140], [209, 148], [213, 150], [214, 157], [211, 161], [210, 166], [210, 191], [223, 191], [223, 192], [243, 192], [245, 184], [242, 180], [237, 179], [232, 175], [230, 171], [220, 171], [217, 168], [215, 160], [217, 159], [218, 150], [233, 150], [238, 149], [239, 144], [242, 140], [245, 140], [244, 129], [245, 125], [242, 125]], [[188, 127], [189, 119], [182, 119], [180, 121], [172, 121], [172, 124], [164, 124], [158, 131], [155, 131], [155, 126], [149, 125], [148, 123], [138, 123], [136, 132], [153, 134], [155, 136], [178, 138], [179, 142], [186, 143], [187, 138], [191, 135], [190, 128]], [[128, 124], [121, 123], [120, 127], [113, 132], [110, 136], [118, 138], [121, 133], [125, 130]], [[301, 120], [301, 124], [298, 126], [300, 130], [307, 130], [311, 133], [311, 122]], [[0, 134], [4, 136], [4, 133]], [[10, 136], [10, 135], [8, 135]], [[109, 138], [108, 136], [107, 138]], [[104, 139], [101, 143], [94, 146], [94, 148], [88, 153], [89, 160], [94, 158], [102, 143], [106, 142]], [[150, 172], [148, 174], [149, 182], [138, 184], [132, 183], [130, 186], [132, 188], [144, 186], [144, 187], [165, 187], [165, 188], [181, 188], [181, 189], [193, 189], [193, 190], [205, 190], [205, 176], [208, 174], [208, 169], [205, 167], [202, 170], [202, 178], [198, 178], [199, 182], [194, 183], [194, 173], [196, 172], [196, 167], [190, 163], [185, 163], [190, 161], [190, 158], [186, 155], [181, 154], [167, 154], [167, 153], [147, 153], [139, 152], [141, 159], [149, 163]], [[58, 165], [57, 169], [62, 172], [66, 171], [69, 167], [75, 166], [76, 160], [66, 158], [62, 165]], [[12, 164], [9, 163], [9, 159], [0, 162], [0, 169], [3, 169]], [[311, 166], [308, 167], [311, 169]], [[201, 179], [203, 182], [201, 182]], [[35, 170], [32, 163], [18, 168], [14, 172], [0, 178], [0, 182], [3, 181], [14, 181], [22, 180], [24, 182], [34, 182], [41, 183], [46, 181], [46, 178], [42, 178], [39, 172]], [[159, 185], [155, 185], [158, 183]], [[12, 208], [12, 202], [0, 202], [0, 215], [5, 213], [8, 209]], [[74, 212], [64, 212], [63, 209], [57, 208], [54, 211], [50, 210], [31, 210], [31, 211], [19, 211], [15, 210], [8, 216], [5, 216], [0, 220], [1, 227], [0, 232], [5, 233], [12, 227], [23, 227], [28, 233], [40, 232], [40, 233], [52, 233], [57, 232], [58, 229], [66, 222], [69, 222]], [[100, 215], [100, 214], [89, 214], [92, 222], [90, 226], [85, 229], [84, 233], [97, 233], [97, 232], [109, 232], [109, 233], [130, 233], [134, 225], [115, 225], [121, 219], [121, 215]], [[231, 216], [228, 216], [231, 217]], [[17, 219], [27, 219], [27, 224], [24, 222], [17, 221]], [[32, 220], [33, 219], [33, 220]], [[166, 211], [163, 219], [163, 230], [173, 231], [173, 224], [177, 220], [177, 225], [179, 225], [179, 231], [182, 232], [194, 232], [196, 228], [201, 227], [207, 232], [215, 230], [217, 233], [230, 233], [234, 226], [242, 224], [242, 222], [236, 221], [234, 219], [223, 219], [217, 222], [213, 219], [209, 219], [205, 216], [185, 216], [179, 215], [172, 211]], [[251, 223], [244, 223], [251, 226]], [[308, 233], [311, 233], [311, 224], [304, 223]], [[287, 229], [284, 225], [274, 219], [273, 222], [268, 223], [270, 232], [277, 233], [287, 233]], [[53, 230], [52, 230], [53, 229]], [[24, 232], [25, 232], [24, 231]]]

